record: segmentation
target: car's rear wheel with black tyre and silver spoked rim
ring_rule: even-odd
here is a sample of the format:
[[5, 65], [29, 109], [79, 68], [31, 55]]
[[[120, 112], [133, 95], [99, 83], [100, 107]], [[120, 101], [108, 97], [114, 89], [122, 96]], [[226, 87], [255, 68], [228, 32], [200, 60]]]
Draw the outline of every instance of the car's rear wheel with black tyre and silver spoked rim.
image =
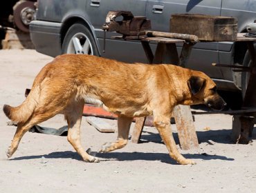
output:
[[68, 29], [62, 44], [62, 53], [99, 55], [91, 32], [82, 23], [75, 23]]

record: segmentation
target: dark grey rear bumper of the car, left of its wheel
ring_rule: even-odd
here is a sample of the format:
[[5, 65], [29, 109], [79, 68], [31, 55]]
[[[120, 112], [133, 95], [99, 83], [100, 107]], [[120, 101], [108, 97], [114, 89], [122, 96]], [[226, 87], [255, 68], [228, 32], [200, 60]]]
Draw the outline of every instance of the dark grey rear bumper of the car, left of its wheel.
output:
[[49, 21], [31, 21], [29, 25], [30, 38], [35, 50], [51, 57], [62, 54], [60, 28], [62, 23]]

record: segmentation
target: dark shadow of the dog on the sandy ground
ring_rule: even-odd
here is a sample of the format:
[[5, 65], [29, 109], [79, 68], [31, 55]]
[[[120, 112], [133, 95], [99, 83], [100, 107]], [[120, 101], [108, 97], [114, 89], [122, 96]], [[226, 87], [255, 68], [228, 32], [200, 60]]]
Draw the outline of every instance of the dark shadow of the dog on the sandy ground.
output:
[[[36, 155], [36, 156], [20, 156], [17, 158], [10, 159], [10, 161], [19, 160], [29, 160], [29, 159], [42, 159], [45, 157], [46, 162], [49, 159], [75, 159], [77, 161], [82, 161], [82, 158], [77, 154], [77, 152], [64, 151], [64, 152], [52, 152], [51, 154]], [[166, 153], [151, 153], [151, 152], [109, 152], [96, 154], [100, 161], [161, 161], [163, 163], [169, 163], [172, 165], [177, 165], [176, 161], [172, 160], [169, 154]], [[224, 161], [233, 161], [232, 158], [227, 158], [226, 156], [220, 155], [210, 155], [210, 154], [183, 154], [185, 158], [188, 159], [220, 159]]]

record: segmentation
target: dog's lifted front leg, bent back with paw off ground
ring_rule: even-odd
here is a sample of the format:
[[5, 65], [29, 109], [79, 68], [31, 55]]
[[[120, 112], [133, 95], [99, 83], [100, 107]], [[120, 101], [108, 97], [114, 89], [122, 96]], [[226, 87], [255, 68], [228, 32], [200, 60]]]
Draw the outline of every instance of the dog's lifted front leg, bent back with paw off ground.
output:
[[98, 152], [111, 152], [125, 147], [128, 143], [132, 117], [118, 116], [118, 139], [113, 143], [104, 143]]

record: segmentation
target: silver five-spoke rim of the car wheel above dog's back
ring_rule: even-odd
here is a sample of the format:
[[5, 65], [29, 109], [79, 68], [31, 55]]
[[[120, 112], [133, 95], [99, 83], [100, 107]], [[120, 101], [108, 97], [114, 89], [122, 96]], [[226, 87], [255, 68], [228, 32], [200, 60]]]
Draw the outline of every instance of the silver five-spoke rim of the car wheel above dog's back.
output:
[[91, 41], [84, 33], [73, 35], [66, 50], [68, 54], [90, 54], [93, 55]]

